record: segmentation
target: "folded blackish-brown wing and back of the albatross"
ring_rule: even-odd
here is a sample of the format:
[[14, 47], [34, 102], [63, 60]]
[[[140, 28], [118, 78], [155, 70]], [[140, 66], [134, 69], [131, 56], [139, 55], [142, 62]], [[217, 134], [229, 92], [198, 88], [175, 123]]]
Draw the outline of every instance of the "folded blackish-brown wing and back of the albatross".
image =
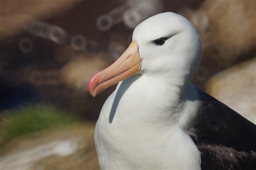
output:
[[256, 125], [198, 89], [202, 105], [193, 120], [202, 170], [256, 170]]

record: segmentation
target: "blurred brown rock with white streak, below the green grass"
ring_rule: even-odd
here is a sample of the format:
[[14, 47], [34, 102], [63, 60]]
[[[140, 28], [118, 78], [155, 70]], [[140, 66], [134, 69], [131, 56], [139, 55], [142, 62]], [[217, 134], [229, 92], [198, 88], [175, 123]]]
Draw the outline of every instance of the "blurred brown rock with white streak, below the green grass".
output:
[[99, 169], [95, 123], [23, 136], [1, 150], [2, 169]]

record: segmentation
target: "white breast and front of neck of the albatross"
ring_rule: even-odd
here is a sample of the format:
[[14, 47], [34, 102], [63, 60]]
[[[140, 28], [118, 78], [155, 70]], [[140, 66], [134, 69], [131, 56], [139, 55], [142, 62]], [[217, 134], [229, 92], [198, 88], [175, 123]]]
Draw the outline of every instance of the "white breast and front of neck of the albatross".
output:
[[[164, 83], [150, 77], [134, 75], [123, 82], [105, 102], [96, 124], [101, 169], [201, 169], [200, 153], [183, 129], [186, 121], [177, 121], [189, 119], [198, 102], [177, 105], [169, 96], [175, 89], [159, 88]], [[151, 90], [155, 86], [167, 90]]]

